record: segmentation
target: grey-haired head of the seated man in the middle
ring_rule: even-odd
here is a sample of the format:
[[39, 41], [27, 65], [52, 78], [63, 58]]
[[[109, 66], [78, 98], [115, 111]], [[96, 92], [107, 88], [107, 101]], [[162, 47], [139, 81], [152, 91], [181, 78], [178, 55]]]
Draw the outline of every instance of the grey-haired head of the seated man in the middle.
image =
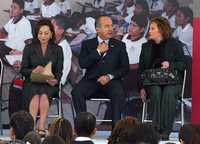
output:
[[97, 34], [103, 40], [112, 38], [113, 22], [109, 16], [102, 15], [95, 21]]

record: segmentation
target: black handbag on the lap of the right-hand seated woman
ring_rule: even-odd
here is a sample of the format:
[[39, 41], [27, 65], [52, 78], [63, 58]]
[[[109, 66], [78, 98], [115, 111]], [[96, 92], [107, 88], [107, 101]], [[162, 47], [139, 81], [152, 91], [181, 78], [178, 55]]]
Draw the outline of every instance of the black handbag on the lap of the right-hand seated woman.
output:
[[143, 86], [175, 85], [181, 83], [177, 70], [163, 68], [146, 69], [141, 73], [140, 79]]

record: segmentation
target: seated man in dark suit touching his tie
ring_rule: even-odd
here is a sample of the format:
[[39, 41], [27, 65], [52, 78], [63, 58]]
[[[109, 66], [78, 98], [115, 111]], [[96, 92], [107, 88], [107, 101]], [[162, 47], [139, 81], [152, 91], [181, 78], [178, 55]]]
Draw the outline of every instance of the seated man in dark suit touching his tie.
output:
[[125, 44], [112, 38], [111, 18], [100, 16], [95, 24], [97, 37], [82, 43], [79, 63], [86, 74], [72, 90], [72, 98], [77, 113], [86, 111], [86, 99], [99, 92], [110, 98], [114, 124], [121, 118], [125, 99], [121, 78], [129, 61]]

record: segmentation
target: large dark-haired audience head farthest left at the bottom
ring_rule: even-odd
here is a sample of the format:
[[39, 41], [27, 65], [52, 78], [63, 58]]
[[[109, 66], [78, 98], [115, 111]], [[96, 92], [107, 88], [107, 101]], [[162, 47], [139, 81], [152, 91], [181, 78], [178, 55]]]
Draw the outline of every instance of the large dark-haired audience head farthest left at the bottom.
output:
[[34, 120], [26, 111], [15, 112], [10, 118], [10, 131], [12, 139], [22, 140], [24, 136], [34, 129]]

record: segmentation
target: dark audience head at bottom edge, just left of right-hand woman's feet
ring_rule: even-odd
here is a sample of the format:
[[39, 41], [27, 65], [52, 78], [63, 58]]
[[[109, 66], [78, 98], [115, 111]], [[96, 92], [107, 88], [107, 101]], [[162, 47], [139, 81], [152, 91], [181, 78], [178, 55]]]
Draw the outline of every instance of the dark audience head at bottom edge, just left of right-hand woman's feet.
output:
[[130, 144], [157, 144], [160, 140], [160, 135], [153, 129], [152, 125], [149, 123], [140, 123], [130, 130]]

